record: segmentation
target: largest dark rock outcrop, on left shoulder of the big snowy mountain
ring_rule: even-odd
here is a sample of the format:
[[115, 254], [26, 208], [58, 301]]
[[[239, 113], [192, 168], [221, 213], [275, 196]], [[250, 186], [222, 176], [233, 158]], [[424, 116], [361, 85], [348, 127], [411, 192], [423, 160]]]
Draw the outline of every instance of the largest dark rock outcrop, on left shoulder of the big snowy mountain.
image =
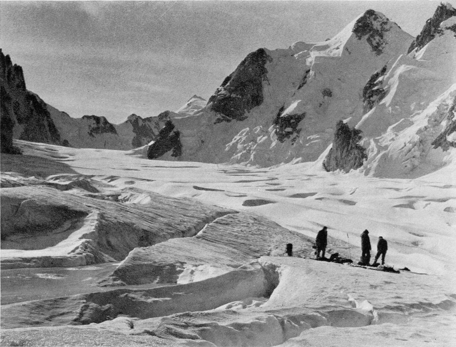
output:
[[207, 104], [220, 114], [215, 123], [242, 121], [245, 111], [263, 103], [263, 81], [266, 63], [271, 58], [263, 48], [250, 53], [211, 96]]

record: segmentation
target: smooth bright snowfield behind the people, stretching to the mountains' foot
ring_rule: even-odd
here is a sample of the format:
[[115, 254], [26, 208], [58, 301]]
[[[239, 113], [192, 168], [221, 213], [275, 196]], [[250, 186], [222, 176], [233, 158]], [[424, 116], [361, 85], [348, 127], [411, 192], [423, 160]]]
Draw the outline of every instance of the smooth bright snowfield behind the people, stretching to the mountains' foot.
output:
[[[191, 198], [264, 216], [309, 237], [326, 225], [329, 237], [352, 247], [359, 247], [359, 234], [367, 228], [373, 232], [371, 237], [381, 235], [389, 240], [389, 259], [399, 267], [413, 263], [425, 272], [451, 268], [447, 262], [453, 258], [447, 254], [446, 244], [453, 242], [456, 185], [448, 167], [419, 179], [378, 179], [359, 172], [327, 173], [321, 161], [252, 169], [150, 161], [123, 151], [21, 141], [16, 145], [26, 156], [2, 156], [3, 172], [42, 177], [63, 173], [59, 179], [68, 180], [74, 180], [75, 174], [84, 175], [100, 185], [109, 184], [117, 194], [122, 189], [139, 189], [136, 194], [124, 193], [134, 196], [124, 200], [136, 203], [136, 208], [150, 203], [149, 192]], [[11, 174], [3, 177], [14, 179]], [[122, 200], [120, 195], [118, 199]], [[357, 257], [356, 252], [353, 248], [352, 258]]]

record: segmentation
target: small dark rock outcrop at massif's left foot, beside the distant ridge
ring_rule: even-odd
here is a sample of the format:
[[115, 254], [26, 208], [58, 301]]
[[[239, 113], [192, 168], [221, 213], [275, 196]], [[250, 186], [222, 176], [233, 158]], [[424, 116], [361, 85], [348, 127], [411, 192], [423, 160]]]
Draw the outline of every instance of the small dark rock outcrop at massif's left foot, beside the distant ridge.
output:
[[160, 158], [170, 151], [172, 151], [171, 156], [180, 157], [182, 150], [180, 135], [178, 130], [174, 130], [174, 124], [167, 121], [165, 127], [158, 133], [157, 140], [148, 147], [147, 158]]

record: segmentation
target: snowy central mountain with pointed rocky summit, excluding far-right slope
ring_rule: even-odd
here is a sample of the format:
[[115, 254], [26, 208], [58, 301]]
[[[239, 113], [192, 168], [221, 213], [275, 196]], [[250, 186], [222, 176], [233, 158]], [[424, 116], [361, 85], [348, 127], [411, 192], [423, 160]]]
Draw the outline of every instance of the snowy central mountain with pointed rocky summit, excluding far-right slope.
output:
[[[372, 74], [406, 53], [413, 37], [369, 10], [332, 40], [250, 53], [193, 116], [172, 120], [182, 160], [270, 166], [310, 161], [337, 121], [363, 115]], [[157, 142], [167, 142], [162, 138]], [[155, 146], [159, 144], [155, 142]], [[175, 160], [173, 147], [163, 159]]]

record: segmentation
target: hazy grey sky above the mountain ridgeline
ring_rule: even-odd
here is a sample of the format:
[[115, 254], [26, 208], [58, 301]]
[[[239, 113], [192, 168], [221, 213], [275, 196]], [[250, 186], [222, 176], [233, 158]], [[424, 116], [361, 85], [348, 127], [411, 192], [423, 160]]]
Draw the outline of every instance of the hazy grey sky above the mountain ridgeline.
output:
[[250, 52], [324, 41], [368, 9], [416, 36], [439, 3], [0, 1], [0, 47], [48, 104], [120, 123], [208, 99]]

